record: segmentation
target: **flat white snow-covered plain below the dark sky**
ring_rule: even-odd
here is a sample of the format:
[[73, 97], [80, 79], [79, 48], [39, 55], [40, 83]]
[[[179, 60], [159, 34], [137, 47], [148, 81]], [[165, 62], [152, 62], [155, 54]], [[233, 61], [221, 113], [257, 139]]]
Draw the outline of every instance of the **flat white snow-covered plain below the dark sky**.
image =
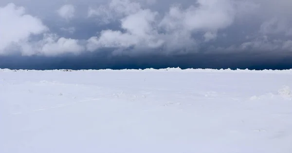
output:
[[292, 70], [0, 69], [0, 153], [292, 153]]

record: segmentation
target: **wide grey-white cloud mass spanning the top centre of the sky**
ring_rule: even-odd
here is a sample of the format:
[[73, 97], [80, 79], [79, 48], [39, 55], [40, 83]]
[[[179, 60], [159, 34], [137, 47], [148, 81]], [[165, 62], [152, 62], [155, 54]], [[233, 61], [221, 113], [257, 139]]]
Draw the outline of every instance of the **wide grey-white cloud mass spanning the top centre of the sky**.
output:
[[[228, 27], [234, 21], [236, 12], [230, 0], [199, 0], [197, 4], [198, 7], [191, 5], [185, 10], [180, 6], [172, 6], [163, 18], [159, 18], [158, 12], [144, 9], [137, 2], [112, 0], [109, 9], [102, 6], [94, 14], [91, 9], [91, 15], [99, 18], [104, 15], [110, 17], [108, 19], [120, 17], [121, 28], [125, 32], [102, 31], [99, 37], [89, 39], [88, 48], [164, 46], [169, 51], [175, 51], [182, 45], [194, 46], [196, 40], [191, 37], [192, 33], [204, 32], [202, 37], [209, 41], [217, 37], [218, 30]], [[174, 43], [180, 44], [176, 47]]]

